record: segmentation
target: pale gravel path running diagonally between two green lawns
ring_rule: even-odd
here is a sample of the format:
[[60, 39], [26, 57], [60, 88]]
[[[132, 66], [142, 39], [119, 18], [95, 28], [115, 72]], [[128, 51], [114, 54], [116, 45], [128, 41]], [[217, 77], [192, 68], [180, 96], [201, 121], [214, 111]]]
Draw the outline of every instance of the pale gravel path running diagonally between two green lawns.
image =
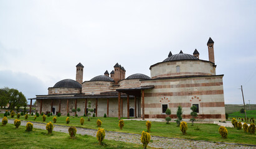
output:
[[[2, 119], [0, 119], [2, 121]], [[13, 124], [13, 119], [8, 119], [9, 124]], [[32, 122], [34, 128], [45, 130], [45, 124]], [[26, 121], [21, 121], [21, 125], [26, 125]], [[46, 131], [46, 130], [45, 130]], [[55, 132], [68, 132], [67, 126], [54, 125]], [[77, 127], [77, 133], [81, 135], [91, 135], [96, 137], [97, 130], [83, 129]], [[119, 133], [119, 132], [108, 132], [106, 131], [105, 139], [116, 140], [121, 142], [141, 144], [140, 135], [131, 133]], [[204, 141], [184, 140], [178, 138], [165, 138], [165, 137], [151, 137], [153, 142], [148, 144], [149, 147], [154, 148], [256, 148], [255, 146], [245, 146], [233, 143], [213, 143]]]

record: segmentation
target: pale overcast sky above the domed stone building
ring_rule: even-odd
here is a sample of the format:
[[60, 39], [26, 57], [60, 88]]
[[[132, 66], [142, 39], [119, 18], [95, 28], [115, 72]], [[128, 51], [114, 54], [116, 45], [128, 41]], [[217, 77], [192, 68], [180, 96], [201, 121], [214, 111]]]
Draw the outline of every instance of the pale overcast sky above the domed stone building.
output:
[[116, 62], [150, 76], [149, 66], [183, 50], [224, 74], [225, 104], [256, 104], [256, 1], [2, 1], [0, 88], [27, 98], [47, 94], [62, 79], [83, 81], [111, 72]]

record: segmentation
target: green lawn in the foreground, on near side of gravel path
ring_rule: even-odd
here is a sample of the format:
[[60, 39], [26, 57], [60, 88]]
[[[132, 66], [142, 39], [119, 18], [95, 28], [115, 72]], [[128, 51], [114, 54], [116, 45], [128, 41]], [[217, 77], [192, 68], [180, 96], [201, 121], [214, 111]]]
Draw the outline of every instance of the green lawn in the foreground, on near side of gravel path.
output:
[[13, 124], [0, 125], [0, 148], [142, 148], [142, 145], [103, 140], [99, 145], [97, 138], [88, 135], [77, 135], [75, 139], [69, 134], [53, 132], [48, 135], [47, 130], [34, 129], [26, 132], [24, 126], [15, 129]]

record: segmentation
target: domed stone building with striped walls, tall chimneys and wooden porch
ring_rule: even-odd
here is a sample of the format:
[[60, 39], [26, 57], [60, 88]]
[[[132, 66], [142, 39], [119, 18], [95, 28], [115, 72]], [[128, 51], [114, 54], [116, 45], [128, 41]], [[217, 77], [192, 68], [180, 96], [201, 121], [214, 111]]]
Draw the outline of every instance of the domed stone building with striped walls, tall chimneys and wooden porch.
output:
[[[109, 74], [83, 81], [83, 65], [76, 66], [76, 81], [64, 79], [48, 88], [47, 95], [37, 95], [36, 110], [66, 115], [83, 115], [92, 102], [95, 115], [103, 117], [165, 118], [167, 108], [171, 118], [176, 118], [178, 106], [183, 107], [183, 118], [191, 118], [190, 107], [197, 106], [197, 119], [224, 120], [224, 91], [222, 78], [216, 75], [214, 42], [207, 42], [209, 61], [192, 55], [173, 55], [151, 65], [151, 77], [136, 73], [126, 78], [126, 70], [116, 63]], [[32, 103], [32, 99], [31, 99]], [[80, 109], [72, 112], [72, 109]]]

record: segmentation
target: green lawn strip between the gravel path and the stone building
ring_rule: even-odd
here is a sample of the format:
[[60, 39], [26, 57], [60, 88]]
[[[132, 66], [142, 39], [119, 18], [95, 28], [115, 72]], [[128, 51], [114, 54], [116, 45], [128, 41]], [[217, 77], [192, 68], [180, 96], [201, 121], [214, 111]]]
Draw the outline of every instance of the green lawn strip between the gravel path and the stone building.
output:
[[[2, 117], [2, 114], [0, 114]], [[52, 122], [52, 117], [47, 117], [46, 122]], [[24, 116], [20, 117], [24, 120]], [[138, 133], [141, 134], [143, 130], [146, 130], [145, 121], [135, 121], [125, 120], [125, 127], [120, 130], [118, 127], [118, 119], [115, 117], [94, 117], [90, 122], [85, 118], [85, 124], [80, 125], [80, 117], [70, 117], [70, 124], [65, 124], [65, 116], [57, 117], [57, 123], [59, 125], [73, 125], [76, 127], [85, 127], [88, 129], [97, 129], [96, 121], [97, 119], [102, 120], [102, 128], [105, 130], [115, 131], [115, 132], [128, 132], [128, 133]], [[8, 116], [8, 119], [10, 117]], [[34, 121], [34, 116], [30, 116], [28, 120]], [[42, 116], [37, 117], [36, 122], [42, 122]], [[199, 127], [200, 130], [196, 130]], [[227, 128], [229, 135], [227, 139], [222, 139], [219, 135], [219, 126], [215, 124], [188, 124], [187, 135], [182, 135], [179, 127], [176, 127], [176, 123], [166, 124], [164, 122], [152, 122], [151, 135], [157, 135], [162, 137], [173, 137], [173, 138], [187, 138], [194, 140], [207, 140], [212, 142], [230, 142], [230, 143], [245, 143], [256, 145], [255, 139], [256, 135], [250, 135], [249, 133], [244, 133], [243, 130], [237, 130], [235, 128]]]

